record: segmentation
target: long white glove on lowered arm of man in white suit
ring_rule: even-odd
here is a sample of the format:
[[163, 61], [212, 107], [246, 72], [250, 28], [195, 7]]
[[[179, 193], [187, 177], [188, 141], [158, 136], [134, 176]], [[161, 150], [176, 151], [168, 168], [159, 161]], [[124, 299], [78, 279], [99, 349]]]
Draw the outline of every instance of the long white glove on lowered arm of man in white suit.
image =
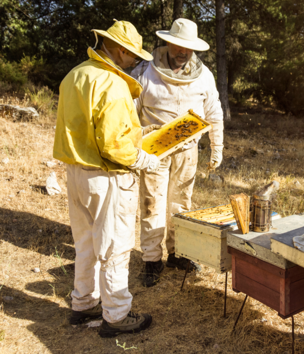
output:
[[209, 139], [211, 146], [210, 163], [208, 163], [208, 170], [218, 167], [223, 159], [223, 129], [224, 124], [222, 120], [208, 120], [213, 128], [209, 130]]

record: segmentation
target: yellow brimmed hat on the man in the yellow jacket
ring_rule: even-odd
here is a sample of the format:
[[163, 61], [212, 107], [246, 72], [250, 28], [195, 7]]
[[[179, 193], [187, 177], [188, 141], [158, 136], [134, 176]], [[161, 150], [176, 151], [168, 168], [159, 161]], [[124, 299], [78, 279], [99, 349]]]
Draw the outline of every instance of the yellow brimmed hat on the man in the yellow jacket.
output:
[[132, 23], [115, 19], [113, 21], [115, 23], [106, 31], [100, 29], [92, 29], [92, 31], [119, 43], [119, 45], [144, 60], [153, 60], [153, 56], [142, 49], [142, 36]]

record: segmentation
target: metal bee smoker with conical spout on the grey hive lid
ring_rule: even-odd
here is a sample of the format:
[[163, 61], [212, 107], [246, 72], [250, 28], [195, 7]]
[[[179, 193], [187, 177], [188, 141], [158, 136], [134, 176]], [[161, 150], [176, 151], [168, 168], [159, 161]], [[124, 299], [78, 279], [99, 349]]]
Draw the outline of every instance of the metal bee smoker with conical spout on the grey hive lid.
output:
[[272, 200], [279, 186], [279, 182], [273, 181], [253, 193], [251, 204], [252, 231], [268, 232], [271, 228]]

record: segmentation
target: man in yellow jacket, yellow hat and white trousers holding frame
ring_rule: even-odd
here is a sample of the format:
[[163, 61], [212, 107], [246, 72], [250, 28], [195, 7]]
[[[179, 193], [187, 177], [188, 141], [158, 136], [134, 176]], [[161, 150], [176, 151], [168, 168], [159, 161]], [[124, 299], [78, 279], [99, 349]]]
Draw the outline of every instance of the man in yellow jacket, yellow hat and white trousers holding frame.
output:
[[128, 265], [138, 200], [131, 170], [152, 173], [159, 160], [141, 150], [133, 99], [142, 86], [123, 69], [153, 57], [142, 49], [142, 37], [129, 22], [115, 20], [107, 31], [93, 31], [96, 45], [103, 37], [101, 49], [89, 48], [89, 59], [60, 85], [53, 156], [67, 164], [76, 250], [70, 323], [102, 316], [99, 334], [112, 337], [139, 332], [152, 320], [130, 311]]

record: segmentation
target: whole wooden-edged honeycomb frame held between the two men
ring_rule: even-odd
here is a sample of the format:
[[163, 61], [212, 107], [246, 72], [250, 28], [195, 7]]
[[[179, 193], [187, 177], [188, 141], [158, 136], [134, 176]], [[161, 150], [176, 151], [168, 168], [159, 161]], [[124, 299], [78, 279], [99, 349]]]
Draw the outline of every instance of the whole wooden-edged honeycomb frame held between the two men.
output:
[[192, 109], [142, 138], [142, 149], [160, 160], [210, 130], [212, 125]]

